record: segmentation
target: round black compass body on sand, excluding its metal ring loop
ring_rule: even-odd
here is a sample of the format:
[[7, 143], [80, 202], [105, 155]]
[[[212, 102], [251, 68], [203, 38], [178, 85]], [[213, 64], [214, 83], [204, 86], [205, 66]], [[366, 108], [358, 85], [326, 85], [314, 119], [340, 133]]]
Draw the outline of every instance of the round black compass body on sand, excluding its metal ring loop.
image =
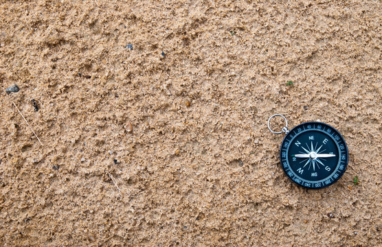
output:
[[328, 124], [307, 122], [293, 128], [282, 141], [280, 160], [284, 172], [306, 188], [335, 183], [348, 166], [348, 148], [339, 132]]

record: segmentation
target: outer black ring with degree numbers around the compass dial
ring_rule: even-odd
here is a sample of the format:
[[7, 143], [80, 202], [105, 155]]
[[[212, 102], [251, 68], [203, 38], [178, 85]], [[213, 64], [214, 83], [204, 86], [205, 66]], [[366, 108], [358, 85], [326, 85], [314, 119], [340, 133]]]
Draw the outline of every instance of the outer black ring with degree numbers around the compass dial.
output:
[[[313, 128], [311, 128], [311, 130], [306, 130], [305, 126], [306, 127], [313, 126]], [[319, 129], [317, 126], [322, 126], [322, 128]], [[300, 128], [300, 131], [297, 131], [299, 130], [299, 128]], [[327, 132], [328, 129], [330, 129], [330, 133]], [[313, 180], [306, 180], [304, 178], [301, 178], [300, 176], [295, 174], [295, 172], [293, 171], [289, 163], [288, 150], [292, 144], [291, 141], [293, 141], [293, 139], [300, 136], [300, 134], [304, 132], [308, 132], [308, 131], [324, 132], [324, 134], [326, 134], [328, 137], [330, 137], [334, 141], [335, 145], [338, 148], [339, 158], [338, 158], [338, 163], [335, 167], [335, 171], [331, 172], [323, 180], [313, 181]], [[335, 134], [337, 134], [338, 140], [335, 139], [336, 137]], [[339, 143], [344, 143], [343, 150], [340, 149]], [[285, 155], [283, 155], [283, 152], [285, 152]], [[344, 155], [346, 155], [345, 158], [344, 158]], [[348, 145], [346, 145], [346, 141], [344, 137], [342, 137], [341, 133], [339, 133], [339, 131], [336, 128], [333, 128], [333, 126], [330, 126], [328, 124], [325, 124], [319, 121], [308, 121], [308, 122], [295, 126], [292, 130], [288, 132], [288, 134], [285, 135], [280, 147], [280, 165], [284, 173], [288, 176], [289, 179], [293, 181], [293, 183], [296, 183], [297, 185], [300, 185], [308, 189], [323, 189], [325, 187], [333, 185], [335, 182], [339, 180], [339, 178], [341, 178], [341, 176], [344, 175], [348, 167], [348, 161], [349, 161]], [[285, 165], [285, 163], [287, 163], [287, 165]]]

